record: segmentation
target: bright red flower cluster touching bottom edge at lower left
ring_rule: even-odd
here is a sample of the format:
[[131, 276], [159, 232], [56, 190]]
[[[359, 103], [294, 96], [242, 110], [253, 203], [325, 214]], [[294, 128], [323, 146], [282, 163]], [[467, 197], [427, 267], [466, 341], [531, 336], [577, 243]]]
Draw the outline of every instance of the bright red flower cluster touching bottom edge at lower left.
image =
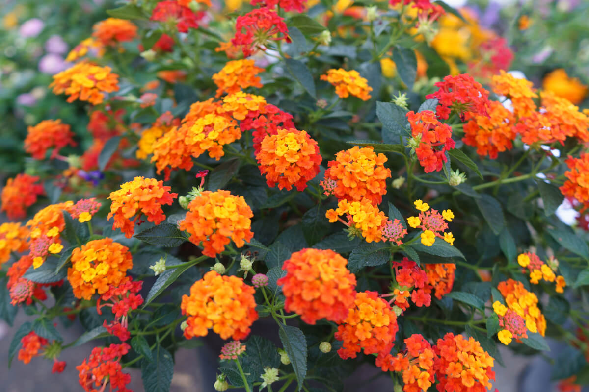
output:
[[97, 388], [104, 390], [110, 383], [110, 391], [118, 389], [119, 392], [130, 392], [127, 384], [131, 382], [131, 376], [123, 373], [121, 357], [129, 352], [127, 343], [111, 344], [108, 347], [94, 347], [88, 360], [84, 359], [78, 370], [78, 382], [87, 392], [95, 392]]

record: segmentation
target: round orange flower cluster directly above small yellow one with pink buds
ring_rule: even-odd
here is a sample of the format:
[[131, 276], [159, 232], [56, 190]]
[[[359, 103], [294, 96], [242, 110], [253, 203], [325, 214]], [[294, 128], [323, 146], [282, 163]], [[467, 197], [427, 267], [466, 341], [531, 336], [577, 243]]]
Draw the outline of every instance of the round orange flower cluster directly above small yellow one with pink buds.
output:
[[372, 147], [354, 146], [338, 152], [336, 159], [327, 163], [322, 183], [335, 182], [333, 195], [337, 199], [368, 199], [378, 205], [386, 193], [386, 179], [391, 177], [391, 169], [385, 167], [386, 161], [386, 156], [383, 153], [377, 155]]

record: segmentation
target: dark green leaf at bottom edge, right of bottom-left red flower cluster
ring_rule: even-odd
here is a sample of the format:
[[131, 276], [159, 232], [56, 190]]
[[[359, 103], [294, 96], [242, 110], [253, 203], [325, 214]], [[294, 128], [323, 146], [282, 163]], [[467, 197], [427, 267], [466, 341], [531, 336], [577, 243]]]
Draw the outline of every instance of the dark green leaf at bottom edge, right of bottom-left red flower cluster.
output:
[[172, 356], [158, 344], [151, 357], [151, 361], [141, 361], [141, 378], [145, 392], [168, 392], [174, 374]]

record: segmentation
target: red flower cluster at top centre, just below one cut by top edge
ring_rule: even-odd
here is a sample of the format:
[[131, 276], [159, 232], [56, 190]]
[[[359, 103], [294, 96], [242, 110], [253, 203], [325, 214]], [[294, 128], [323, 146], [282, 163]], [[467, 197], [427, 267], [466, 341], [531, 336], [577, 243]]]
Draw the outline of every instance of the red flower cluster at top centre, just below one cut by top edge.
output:
[[288, 29], [284, 18], [270, 8], [256, 8], [245, 15], [237, 17], [236, 33], [231, 43], [241, 47], [243, 55], [249, 57], [258, 50], [265, 50], [269, 41], [288, 38]]

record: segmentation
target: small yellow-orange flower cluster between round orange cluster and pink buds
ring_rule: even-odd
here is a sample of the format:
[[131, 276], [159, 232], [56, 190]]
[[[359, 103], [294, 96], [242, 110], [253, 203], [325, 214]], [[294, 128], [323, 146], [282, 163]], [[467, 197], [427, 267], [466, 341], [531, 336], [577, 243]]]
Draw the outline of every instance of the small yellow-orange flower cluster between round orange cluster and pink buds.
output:
[[382, 230], [389, 222], [385, 213], [378, 207], [373, 206], [368, 200], [360, 202], [348, 202], [340, 200], [337, 203], [337, 209], [327, 210], [325, 217], [330, 223], [339, 219], [340, 215], [346, 215], [348, 222], [341, 221], [350, 229], [350, 234], [361, 234], [366, 242], [379, 242], [382, 240]]

